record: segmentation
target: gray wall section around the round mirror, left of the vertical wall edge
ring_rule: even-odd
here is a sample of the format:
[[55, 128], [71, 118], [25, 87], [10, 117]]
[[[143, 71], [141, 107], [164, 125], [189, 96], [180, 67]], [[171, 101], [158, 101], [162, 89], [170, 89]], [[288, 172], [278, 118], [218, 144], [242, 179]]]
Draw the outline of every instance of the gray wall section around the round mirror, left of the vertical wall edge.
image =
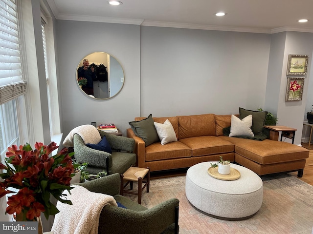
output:
[[[90, 122], [115, 123], [126, 135], [140, 113], [139, 26], [57, 20], [56, 28], [64, 137]], [[92, 52], [111, 54], [124, 69], [122, 92], [109, 100], [89, 98], [78, 88], [77, 64]]]

